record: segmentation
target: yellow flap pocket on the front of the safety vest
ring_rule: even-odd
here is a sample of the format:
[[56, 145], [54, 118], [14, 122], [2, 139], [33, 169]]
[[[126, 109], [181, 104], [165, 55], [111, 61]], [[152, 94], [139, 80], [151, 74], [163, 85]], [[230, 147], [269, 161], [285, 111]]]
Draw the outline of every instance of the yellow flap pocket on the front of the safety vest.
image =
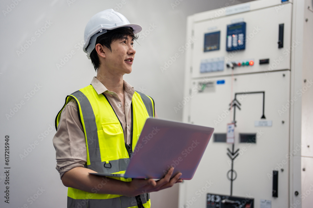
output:
[[102, 130], [98, 131], [101, 161], [120, 159], [121, 144], [124, 145], [124, 135], [120, 123], [102, 123]]

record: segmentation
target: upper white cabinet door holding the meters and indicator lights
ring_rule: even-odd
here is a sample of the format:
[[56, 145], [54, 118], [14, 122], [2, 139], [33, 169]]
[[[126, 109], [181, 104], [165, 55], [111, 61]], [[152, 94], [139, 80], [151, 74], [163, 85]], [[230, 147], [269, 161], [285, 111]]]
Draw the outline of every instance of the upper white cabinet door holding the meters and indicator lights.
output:
[[299, 44], [291, 40], [292, 4], [255, 10], [249, 4], [232, 15], [217, 10], [193, 17], [192, 78], [290, 70], [290, 52]]

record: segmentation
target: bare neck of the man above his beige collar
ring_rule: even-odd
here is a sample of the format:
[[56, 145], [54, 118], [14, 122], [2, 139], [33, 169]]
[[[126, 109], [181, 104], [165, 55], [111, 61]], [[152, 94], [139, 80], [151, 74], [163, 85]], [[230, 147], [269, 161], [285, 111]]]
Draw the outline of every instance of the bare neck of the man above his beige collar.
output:
[[111, 74], [107, 70], [98, 69], [97, 79], [108, 89], [116, 94], [124, 94], [123, 75]]

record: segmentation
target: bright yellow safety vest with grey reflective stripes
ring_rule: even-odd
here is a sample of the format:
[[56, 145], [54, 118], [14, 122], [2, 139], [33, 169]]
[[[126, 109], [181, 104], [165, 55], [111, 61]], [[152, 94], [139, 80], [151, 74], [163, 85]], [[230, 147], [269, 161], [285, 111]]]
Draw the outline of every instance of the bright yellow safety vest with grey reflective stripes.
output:
[[[55, 126], [59, 125], [61, 112], [65, 105], [74, 99], [78, 116], [84, 129], [87, 146], [86, 168], [96, 172], [124, 173], [130, 160], [132, 149], [135, 149], [141, 130], [146, 119], [154, 117], [154, 101], [151, 97], [135, 91], [131, 102], [131, 149], [124, 142], [123, 127], [112, 108], [106, 95], [98, 94], [92, 85], [82, 88], [68, 95], [63, 108], [55, 119]], [[121, 181], [131, 179], [114, 177]], [[93, 193], [68, 188], [68, 208], [148, 208], [150, 195], [148, 193], [136, 197], [113, 194], [98, 194], [98, 184]]]

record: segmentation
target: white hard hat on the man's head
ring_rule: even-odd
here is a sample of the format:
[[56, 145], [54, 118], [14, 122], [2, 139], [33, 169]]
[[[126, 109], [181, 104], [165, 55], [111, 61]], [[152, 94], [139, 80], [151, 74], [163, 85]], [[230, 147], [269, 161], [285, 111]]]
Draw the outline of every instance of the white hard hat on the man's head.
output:
[[97, 37], [106, 33], [107, 30], [113, 30], [119, 27], [132, 27], [134, 34], [140, 32], [142, 27], [140, 25], [131, 24], [124, 15], [115, 12], [113, 9], [107, 9], [96, 13], [88, 21], [84, 33], [84, 47], [83, 50], [87, 53], [90, 59], [90, 53], [95, 49]]

